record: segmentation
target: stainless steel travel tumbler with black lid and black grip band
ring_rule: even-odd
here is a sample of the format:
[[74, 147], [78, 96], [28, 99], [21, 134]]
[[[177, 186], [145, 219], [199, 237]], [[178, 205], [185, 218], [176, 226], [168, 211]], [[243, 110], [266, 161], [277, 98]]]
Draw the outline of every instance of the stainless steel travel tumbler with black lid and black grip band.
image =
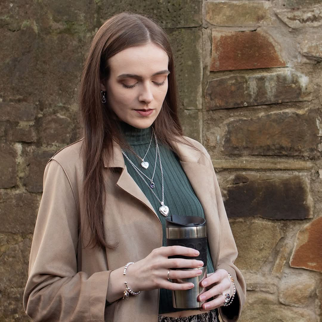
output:
[[[201, 281], [207, 277], [207, 232], [204, 218], [196, 216], [184, 216], [175, 218], [176, 222], [166, 218], [166, 245], [185, 246], [199, 251], [199, 256], [171, 256], [169, 258], [185, 258], [202, 260], [204, 266], [200, 268], [202, 274], [187, 279], [172, 279], [174, 283], [193, 283], [194, 288], [188, 290], [172, 291], [172, 303], [174, 308], [201, 308], [204, 302], [198, 302], [198, 295], [205, 291]], [[175, 270], [175, 269], [174, 269]], [[178, 270], [197, 270], [195, 268], [180, 268]]]

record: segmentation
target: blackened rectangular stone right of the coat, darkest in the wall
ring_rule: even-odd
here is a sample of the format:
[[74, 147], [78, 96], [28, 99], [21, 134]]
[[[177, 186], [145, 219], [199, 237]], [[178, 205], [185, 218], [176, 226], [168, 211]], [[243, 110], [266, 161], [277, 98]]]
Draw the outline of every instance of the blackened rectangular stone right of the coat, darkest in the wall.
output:
[[306, 219], [313, 213], [304, 175], [236, 174], [221, 186], [228, 217]]

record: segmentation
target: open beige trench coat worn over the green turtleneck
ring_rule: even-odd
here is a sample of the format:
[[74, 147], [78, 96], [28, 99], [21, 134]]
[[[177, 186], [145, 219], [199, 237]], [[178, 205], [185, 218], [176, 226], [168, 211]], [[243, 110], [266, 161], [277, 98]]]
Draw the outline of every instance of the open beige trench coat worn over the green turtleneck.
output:
[[[176, 152], [204, 208], [213, 266], [227, 270], [236, 282], [240, 302], [234, 312], [236, 317], [229, 319], [219, 310], [223, 321], [236, 321], [246, 295], [245, 281], [233, 264], [236, 245], [210, 156], [200, 143], [187, 139], [200, 151], [177, 143]], [[119, 299], [105, 308], [111, 270], [141, 260], [161, 247], [162, 225], [147, 197], [128, 174], [121, 149], [115, 144], [112, 163], [107, 165], [104, 161], [107, 192], [104, 231], [107, 242], [118, 242], [118, 247], [83, 249], [88, 237], [80, 234], [81, 228], [87, 226], [81, 197], [82, 142], [60, 150], [45, 168], [24, 309], [34, 321], [157, 322], [158, 289], [143, 291], [128, 300]]]

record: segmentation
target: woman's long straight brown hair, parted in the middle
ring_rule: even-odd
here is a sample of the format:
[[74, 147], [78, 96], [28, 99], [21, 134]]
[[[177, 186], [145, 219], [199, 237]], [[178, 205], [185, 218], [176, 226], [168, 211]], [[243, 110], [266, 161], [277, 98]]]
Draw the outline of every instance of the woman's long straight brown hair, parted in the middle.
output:
[[[83, 200], [85, 215], [89, 220], [90, 242], [93, 247], [113, 247], [104, 238], [103, 214], [105, 188], [103, 182], [102, 152], [107, 150], [111, 160], [113, 141], [124, 147], [117, 123], [113, 122], [113, 111], [101, 102], [100, 80], [109, 77], [108, 59], [118, 52], [152, 42], [162, 48], [169, 57], [168, 90], [163, 106], [154, 122], [158, 140], [169, 146], [171, 141], [182, 138], [178, 119], [178, 91], [175, 80], [174, 57], [165, 31], [140, 14], [120, 13], [109, 18], [97, 31], [91, 43], [84, 65], [80, 84], [80, 111], [84, 128], [82, 148], [85, 157]], [[107, 99], [108, 101], [108, 99]], [[184, 140], [183, 140], [184, 141]]]

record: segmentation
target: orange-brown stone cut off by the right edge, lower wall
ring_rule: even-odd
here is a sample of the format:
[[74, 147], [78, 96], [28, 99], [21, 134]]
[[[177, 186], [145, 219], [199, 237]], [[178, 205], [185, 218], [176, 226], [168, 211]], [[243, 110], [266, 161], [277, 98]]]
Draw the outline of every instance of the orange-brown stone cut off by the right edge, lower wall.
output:
[[322, 217], [305, 225], [296, 235], [291, 267], [322, 272]]

